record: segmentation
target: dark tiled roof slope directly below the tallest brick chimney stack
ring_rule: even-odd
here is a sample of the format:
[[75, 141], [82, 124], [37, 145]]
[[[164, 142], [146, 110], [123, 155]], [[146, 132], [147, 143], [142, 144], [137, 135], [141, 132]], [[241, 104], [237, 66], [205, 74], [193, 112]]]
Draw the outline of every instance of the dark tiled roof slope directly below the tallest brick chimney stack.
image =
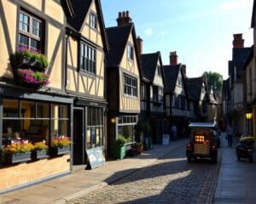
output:
[[118, 66], [121, 62], [132, 26], [133, 24], [129, 24], [128, 26], [116, 26], [106, 29], [110, 48], [107, 54], [108, 67]]

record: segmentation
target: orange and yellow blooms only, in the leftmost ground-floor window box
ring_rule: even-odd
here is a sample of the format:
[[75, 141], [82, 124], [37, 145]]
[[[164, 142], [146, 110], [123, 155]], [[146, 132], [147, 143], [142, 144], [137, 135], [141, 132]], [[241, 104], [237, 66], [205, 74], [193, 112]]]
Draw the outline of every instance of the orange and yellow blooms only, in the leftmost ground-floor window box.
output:
[[13, 140], [11, 144], [3, 147], [3, 155], [5, 154], [20, 154], [33, 150], [33, 144], [28, 140]]

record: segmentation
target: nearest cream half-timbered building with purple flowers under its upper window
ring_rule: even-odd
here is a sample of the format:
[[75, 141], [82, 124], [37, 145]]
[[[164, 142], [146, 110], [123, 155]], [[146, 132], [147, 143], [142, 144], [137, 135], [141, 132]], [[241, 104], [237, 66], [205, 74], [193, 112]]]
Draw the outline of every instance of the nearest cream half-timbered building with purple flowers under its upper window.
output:
[[0, 1], [1, 193], [70, 173], [69, 152], [49, 157], [49, 151], [32, 162], [24, 162], [29, 152], [11, 153], [44, 141], [50, 150], [58, 136], [73, 139], [73, 98], [64, 86], [69, 16], [69, 1]]

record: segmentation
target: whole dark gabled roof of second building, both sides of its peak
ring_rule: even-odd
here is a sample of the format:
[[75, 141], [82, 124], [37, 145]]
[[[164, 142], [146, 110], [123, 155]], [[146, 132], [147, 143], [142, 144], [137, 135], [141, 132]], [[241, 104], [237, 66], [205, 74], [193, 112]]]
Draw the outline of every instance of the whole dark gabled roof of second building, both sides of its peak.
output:
[[[67, 26], [79, 32], [84, 25], [84, 20], [85, 20], [86, 14], [89, 12], [89, 8], [90, 8], [90, 4], [92, 3], [92, 0], [86, 0], [86, 1], [67, 0], [67, 1], [71, 2], [71, 6], [73, 8], [73, 16], [67, 17]], [[104, 47], [107, 48], [108, 50], [108, 38], [105, 32], [105, 23], [103, 20], [102, 5], [100, 0], [95, 0], [95, 3], [96, 3], [97, 14], [98, 14], [97, 22], [101, 27], [103, 44], [104, 44]]]

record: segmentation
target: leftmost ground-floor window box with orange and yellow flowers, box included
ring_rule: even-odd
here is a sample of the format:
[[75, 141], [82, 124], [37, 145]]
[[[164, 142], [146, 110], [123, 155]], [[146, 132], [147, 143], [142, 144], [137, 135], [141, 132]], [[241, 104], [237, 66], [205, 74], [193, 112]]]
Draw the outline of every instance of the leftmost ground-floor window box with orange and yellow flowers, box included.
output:
[[12, 164], [31, 160], [32, 143], [28, 140], [13, 140], [11, 144], [3, 147], [3, 157], [6, 163]]

